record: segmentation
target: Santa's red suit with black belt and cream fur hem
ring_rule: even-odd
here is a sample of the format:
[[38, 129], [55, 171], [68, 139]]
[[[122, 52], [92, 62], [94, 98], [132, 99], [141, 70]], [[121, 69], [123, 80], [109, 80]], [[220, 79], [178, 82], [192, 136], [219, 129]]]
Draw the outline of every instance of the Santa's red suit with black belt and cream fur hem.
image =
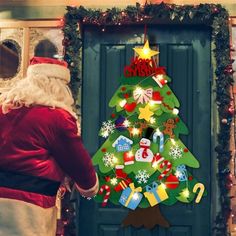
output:
[[65, 175], [86, 195], [97, 177], [64, 109], [0, 107], [0, 236], [55, 236], [57, 190]]

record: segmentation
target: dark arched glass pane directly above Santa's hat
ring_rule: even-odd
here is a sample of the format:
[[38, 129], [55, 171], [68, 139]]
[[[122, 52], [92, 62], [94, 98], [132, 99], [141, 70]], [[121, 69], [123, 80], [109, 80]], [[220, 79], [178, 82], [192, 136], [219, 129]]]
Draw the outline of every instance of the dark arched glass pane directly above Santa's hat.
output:
[[36, 57], [54, 57], [57, 54], [56, 46], [48, 39], [41, 40], [35, 47]]

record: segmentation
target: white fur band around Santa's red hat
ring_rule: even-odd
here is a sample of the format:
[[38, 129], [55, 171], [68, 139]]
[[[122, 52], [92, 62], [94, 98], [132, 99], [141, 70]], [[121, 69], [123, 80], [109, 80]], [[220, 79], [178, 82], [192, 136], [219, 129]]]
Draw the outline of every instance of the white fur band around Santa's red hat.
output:
[[44, 74], [48, 77], [56, 77], [65, 80], [67, 83], [70, 82], [70, 70], [65, 66], [57, 64], [35, 64], [30, 65], [27, 70], [27, 76], [35, 74]]

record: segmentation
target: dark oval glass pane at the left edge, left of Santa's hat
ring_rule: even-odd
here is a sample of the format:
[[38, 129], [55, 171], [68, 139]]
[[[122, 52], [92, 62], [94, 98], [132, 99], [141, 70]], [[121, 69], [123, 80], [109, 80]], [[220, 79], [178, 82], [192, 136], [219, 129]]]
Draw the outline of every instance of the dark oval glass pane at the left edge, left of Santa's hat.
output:
[[16, 41], [7, 39], [0, 42], [0, 78], [12, 78], [17, 74], [20, 54], [20, 46]]

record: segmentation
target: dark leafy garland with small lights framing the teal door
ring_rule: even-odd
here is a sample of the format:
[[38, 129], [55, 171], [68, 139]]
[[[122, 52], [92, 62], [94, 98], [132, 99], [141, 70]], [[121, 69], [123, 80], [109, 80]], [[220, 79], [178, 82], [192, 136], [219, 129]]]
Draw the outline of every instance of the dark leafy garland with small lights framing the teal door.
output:
[[[191, 14], [190, 14], [191, 13]], [[109, 16], [109, 18], [108, 18]], [[114, 19], [112, 20], [112, 16]], [[158, 16], [158, 17], [157, 17]], [[232, 20], [231, 20], [232, 22]], [[78, 88], [73, 89], [73, 85], [78, 85], [81, 81], [80, 72], [82, 70], [81, 58], [83, 40], [81, 32], [83, 32], [83, 25], [94, 25], [101, 29], [101, 33], [106, 30], [107, 26], [115, 26], [122, 24], [197, 24], [208, 25], [212, 29], [212, 43], [211, 43], [211, 59], [212, 59], [212, 86], [211, 86], [211, 147], [212, 147], [212, 165], [211, 165], [211, 223], [216, 226], [215, 232], [221, 232], [222, 236], [227, 235], [228, 228], [218, 228], [220, 224], [228, 226], [230, 214], [225, 218], [225, 214], [229, 213], [230, 203], [226, 206], [225, 201], [229, 200], [228, 191], [225, 191], [225, 186], [231, 184], [228, 177], [229, 173], [225, 172], [230, 166], [232, 158], [230, 153], [224, 154], [223, 151], [230, 151], [230, 128], [232, 119], [227, 119], [227, 123], [223, 122], [223, 118], [232, 118], [229, 114], [228, 108], [231, 106], [230, 97], [232, 96], [232, 72], [230, 72], [230, 33], [229, 33], [229, 15], [225, 8], [216, 4], [201, 4], [199, 6], [184, 5], [178, 6], [174, 4], [146, 4], [140, 6], [127, 7], [123, 10], [107, 9], [106, 11], [97, 11], [92, 9], [85, 9], [83, 7], [68, 7], [67, 13], [64, 17], [64, 59], [69, 63], [71, 69], [72, 90], [74, 97], [78, 98]], [[221, 34], [222, 33], [222, 34]], [[221, 42], [225, 45], [221, 47]], [[75, 48], [77, 50], [75, 50]], [[216, 50], [217, 48], [217, 50]], [[224, 61], [221, 60], [224, 58]], [[223, 69], [222, 69], [223, 68]], [[215, 72], [215, 73], [214, 73]], [[223, 88], [223, 89], [222, 89]], [[215, 92], [216, 90], [216, 92]], [[218, 106], [217, 104], [222, 104]], [[218, 137], [218, 138], [217, 138]], [[223, 137], [223, 138], [220, 138]], [[226, 148], [223, 148], [225, 147]], [[215, 149], [216, 147], [216, 149]], [[225, 163], [224, 158], [228, 158]], [[218, 168], [217, 168], [218, 159]], [[222, 171], [224, 165], [224, 171]], [[218, 187], [217, 173], [223, 178], [222, 184]], [[218, 194], [215, 194], [218, 193]], [[218, 197], [221, 196], [218, 203]], [[222, 197], [223, 196], [223, 197]], [[224, 206], [224, 208], [223, 208]], [[217, 216], [224, 216], [223, 219], [217, 219]], [[217, 219], [217, 220], [216, 220]], [[216, 224], [215, 224], [216, 223]]]

